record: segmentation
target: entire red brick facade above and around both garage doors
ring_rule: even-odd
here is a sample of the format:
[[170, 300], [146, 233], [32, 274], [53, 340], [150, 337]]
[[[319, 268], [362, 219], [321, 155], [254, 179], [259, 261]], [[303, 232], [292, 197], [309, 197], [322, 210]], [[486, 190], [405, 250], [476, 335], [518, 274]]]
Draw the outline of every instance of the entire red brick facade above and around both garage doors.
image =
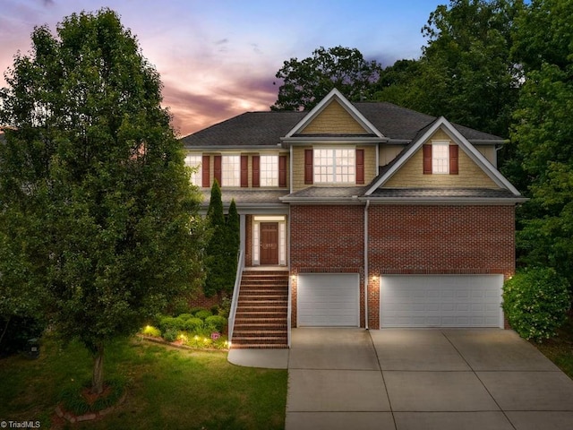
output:
[[[291, 206], [293, 273], [360, 273], [363, 326], [363, 206]], [[514, 272], [513, 205], [376, 205], [368, 210], [368, 323], [380, 328], [379, 277]], [[377, 279], [374, 280], [374, 277]], [[292, 323], [296, 324], [296, 280]]]

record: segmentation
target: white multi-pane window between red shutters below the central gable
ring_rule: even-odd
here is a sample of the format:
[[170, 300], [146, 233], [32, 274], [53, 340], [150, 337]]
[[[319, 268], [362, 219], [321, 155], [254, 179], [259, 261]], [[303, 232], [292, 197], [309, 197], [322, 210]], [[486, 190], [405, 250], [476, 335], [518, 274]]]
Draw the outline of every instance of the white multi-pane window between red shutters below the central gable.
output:
[[355, 184], [354, 148], [314, 149], [315, 184]]

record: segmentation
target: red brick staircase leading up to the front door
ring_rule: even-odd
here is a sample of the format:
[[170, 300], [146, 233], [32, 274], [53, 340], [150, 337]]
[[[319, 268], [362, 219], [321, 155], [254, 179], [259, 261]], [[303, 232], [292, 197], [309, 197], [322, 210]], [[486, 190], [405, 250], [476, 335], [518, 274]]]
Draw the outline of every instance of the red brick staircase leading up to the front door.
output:
[[288, 271], [243, 271], [232, 347], [288, 348]]

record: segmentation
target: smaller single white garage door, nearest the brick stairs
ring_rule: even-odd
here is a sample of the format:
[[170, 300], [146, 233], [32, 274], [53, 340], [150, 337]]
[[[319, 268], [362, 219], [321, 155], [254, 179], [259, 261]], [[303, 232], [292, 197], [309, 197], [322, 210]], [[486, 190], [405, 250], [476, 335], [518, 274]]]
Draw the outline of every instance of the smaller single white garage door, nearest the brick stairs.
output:
[[298, 275], [298, 327], [358, 327], [360, 277], [357, 273]]

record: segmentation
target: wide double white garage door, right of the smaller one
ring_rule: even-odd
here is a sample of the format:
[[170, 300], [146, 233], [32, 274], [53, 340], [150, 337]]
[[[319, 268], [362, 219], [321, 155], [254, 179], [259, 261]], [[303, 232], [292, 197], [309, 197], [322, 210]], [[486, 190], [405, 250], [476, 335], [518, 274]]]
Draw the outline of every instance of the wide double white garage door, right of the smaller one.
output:
[[503, 275], [385, 275], [381, 327], [503, 327]]

